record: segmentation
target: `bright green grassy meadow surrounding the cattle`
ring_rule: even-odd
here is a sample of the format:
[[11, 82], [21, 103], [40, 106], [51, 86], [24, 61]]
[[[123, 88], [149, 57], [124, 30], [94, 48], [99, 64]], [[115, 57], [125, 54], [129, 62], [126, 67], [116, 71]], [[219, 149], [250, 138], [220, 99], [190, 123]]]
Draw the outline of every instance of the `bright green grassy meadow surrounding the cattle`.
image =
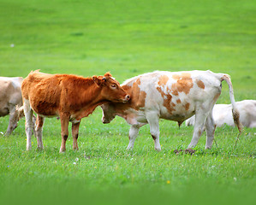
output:
[[[256, 99], [256, 3], [253, 0], [0, 0], [0, 76], [44, 73], [102, 75], [122, 82], [154, 70], [229, 73], [235, 100]], [[223, 82], [218, 103], [229, 103]], [[162, 151], [149, 126], [127, 151], [129, 126], [101, 109], [82, 120], [79, 150], [59, 154], [60, 121], [46, 119], [38, 151], [26, 151], [25, 120], [4, 137], [0, 118], [0, 200], [17, 203], [254, 204], [256, 128], [217, 128], [205, 150], [186, 149], [193, 127], [160, 121]], [[69, 127], [70, 128], [70, 127]], [[69, 129], [70, 130], [70, 129]], [[71, 130], [70, 130], [71, 132]]]

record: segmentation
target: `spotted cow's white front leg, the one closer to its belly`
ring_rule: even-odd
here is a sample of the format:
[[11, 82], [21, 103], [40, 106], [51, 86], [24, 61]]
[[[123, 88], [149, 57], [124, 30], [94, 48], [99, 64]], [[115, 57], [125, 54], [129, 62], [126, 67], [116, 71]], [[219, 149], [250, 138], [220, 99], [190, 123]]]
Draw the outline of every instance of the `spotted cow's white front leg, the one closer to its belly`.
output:
[[161, 151], [161, 145], [159, 142], [159, 116], [157, 113], [146, 114], [146, 120], [150, 126], [150, 133], [155, 143], [155, 149]]

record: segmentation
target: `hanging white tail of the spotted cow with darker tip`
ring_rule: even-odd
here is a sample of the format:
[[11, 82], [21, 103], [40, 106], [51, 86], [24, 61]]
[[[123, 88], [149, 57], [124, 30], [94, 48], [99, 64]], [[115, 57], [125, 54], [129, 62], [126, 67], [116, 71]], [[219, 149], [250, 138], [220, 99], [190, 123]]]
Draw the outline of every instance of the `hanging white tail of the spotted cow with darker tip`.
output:
[[241, 121], [239, 120], [240, 114], [239, 114], [238, 109], [236, 108], [235, 97], [234, 97], [234, 92], [233, 92], [233, 85], [231, 83], [230, 77], [228, 74], [223, 74], [221, 80], [222, 81], [225, 80], [227, 82], [227, 84], [229, 85], [229, 97], [230, 97], [230, 101], [232, 104], [233, 120], [234, 120], [235, 126], [237, 126], [239, 132], [242, 132], [243, 125], [241, 124]]

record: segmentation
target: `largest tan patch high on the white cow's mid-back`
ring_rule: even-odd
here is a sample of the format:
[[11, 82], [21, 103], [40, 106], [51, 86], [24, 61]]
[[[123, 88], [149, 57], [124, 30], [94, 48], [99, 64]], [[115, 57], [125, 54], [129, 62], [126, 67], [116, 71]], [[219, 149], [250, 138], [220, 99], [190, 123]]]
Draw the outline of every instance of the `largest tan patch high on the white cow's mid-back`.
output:
[[178, 96], [179, 92], [188, 94], [193, 87], [193, 80], [190, 73], [174, 74], [172, 78], [177, 80], [175, 84], [171, 85], [171, 93], [175, 96]]

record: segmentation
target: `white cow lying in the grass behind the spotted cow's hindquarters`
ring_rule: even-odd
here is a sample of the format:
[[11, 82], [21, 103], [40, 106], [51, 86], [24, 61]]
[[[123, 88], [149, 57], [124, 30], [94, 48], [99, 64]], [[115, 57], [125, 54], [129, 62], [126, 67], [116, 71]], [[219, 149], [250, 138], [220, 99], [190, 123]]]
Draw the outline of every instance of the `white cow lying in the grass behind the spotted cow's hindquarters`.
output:
[[[243, 126], [256, 127], [256, 101], [244, 100], [235, 102], [240, 113]], [[232, 104], [216, 104], [212, 109], [213, 120], [216, 126], [235, 126], [232, 116]], [[186, 126], [194, 125], [194, 116], [186, 120]]]

